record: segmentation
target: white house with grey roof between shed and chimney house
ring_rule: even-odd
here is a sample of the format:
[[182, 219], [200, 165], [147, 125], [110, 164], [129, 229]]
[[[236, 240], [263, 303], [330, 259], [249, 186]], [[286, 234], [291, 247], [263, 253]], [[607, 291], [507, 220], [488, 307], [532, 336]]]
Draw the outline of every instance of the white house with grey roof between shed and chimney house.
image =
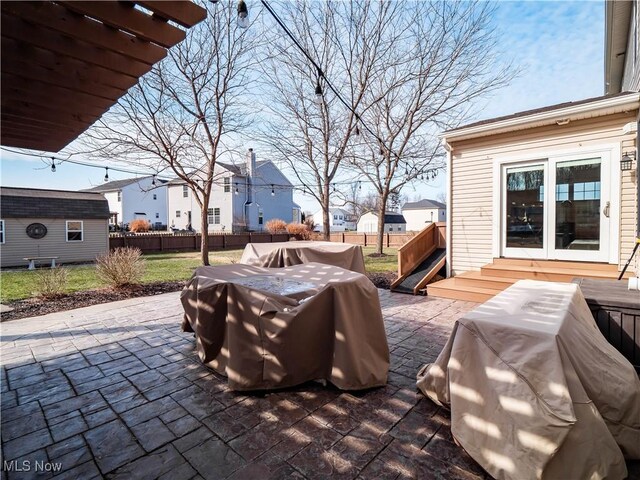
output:
[[[154, 185], [155, 184], [155, 185]], [[83, 192], [102, 193], [109, 202], [111, 225], [143, 219], [155, 228], [167, 225], [167, 182], [153, 176], [114, 180]]]

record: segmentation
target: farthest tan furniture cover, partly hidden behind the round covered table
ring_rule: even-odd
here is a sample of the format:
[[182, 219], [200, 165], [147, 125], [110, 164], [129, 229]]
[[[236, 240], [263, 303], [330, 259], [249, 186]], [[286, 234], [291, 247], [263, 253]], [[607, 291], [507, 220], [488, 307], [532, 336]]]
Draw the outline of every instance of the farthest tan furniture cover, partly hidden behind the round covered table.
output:
[[301, 263], [325, 263], [365, 273], [364, 257], [359, 245], [333, 242], [249, 243], [240, 263], [257, 267], [279, 268]]

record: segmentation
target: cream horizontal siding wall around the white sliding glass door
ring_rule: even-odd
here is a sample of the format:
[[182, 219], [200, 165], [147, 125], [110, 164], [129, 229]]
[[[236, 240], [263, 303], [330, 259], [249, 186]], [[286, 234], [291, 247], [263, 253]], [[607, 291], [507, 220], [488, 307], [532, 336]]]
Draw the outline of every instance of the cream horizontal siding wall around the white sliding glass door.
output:
[[[497, 158], [531, 159], [540, 152], [541, 158], [555, 150], [580, 149], [599, 145], [633, 142], [635, 133], [624, 135], [622, 127], [636, 120], [637, 111], [590, 118], [568, 125], [552, 125], [521, 130], [478, 139], [450, 142], [452, 152], [451, 193], [451, 267], [452, 273], [479, 270], [493, 260], [493, 197], [500, 188], [494, 179], [493, 161]], [[631, 143], [625, 143], [625, 145]], [[615, 166], [619, 159], [611, 159]], [[622, 177], [619, 199], [623, 218], [620, 251], [633, 248], [629, 222], [635, 212], [635, 183], [630, 175]], [[633, 222], [635, 227], [635, 222]], [[631, 240], [631, 243], [630, 243]], [[631, 246], [630, 246], [631, 245]]]

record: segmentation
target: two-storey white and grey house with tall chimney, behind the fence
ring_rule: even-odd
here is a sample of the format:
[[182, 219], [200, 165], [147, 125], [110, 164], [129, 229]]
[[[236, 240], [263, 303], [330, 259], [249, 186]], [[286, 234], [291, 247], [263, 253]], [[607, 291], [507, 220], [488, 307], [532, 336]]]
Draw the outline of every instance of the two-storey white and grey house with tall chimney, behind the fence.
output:
[[[202, 230], [200, 207], [182, 179], [168, 183], [169, 227]], [[244, 165], [217, 162], [208, 210], [208, 231], [262, 231], [279, 218], [299, 223], [301, 209], [293, 201], [293, 185], [270, 160], [256, 161], [249, 149]]]

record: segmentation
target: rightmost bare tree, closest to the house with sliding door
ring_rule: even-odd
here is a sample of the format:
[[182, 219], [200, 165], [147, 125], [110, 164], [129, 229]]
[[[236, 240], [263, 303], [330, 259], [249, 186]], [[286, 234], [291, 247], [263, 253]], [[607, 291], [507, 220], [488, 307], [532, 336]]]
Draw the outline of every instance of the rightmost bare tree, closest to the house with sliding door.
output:
[[[437, 133], [456, 125], [472, 102], [515, 75], [498, 62], [493, 6], [482, 2], [406, 2], [402, 13], [375, 3], [381, 42], [361, 104], [368, 126], [352, 165], [378, 193], [377, 251], [391, 195], [444, 168]], [[358, 64], [354, 66], [357, 68]], [[356, 73], [357, 75], [357, 73]]]

